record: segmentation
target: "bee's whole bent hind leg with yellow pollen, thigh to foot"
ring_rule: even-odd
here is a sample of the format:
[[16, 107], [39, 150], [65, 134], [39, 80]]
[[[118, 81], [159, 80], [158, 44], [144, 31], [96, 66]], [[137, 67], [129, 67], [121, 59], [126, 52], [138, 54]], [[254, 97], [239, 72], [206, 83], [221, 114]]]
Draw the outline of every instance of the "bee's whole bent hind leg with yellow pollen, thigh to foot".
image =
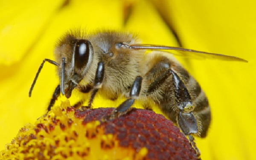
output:
[[194, 113], [192, 112], [194, 106], [189, 91], [178, 74], [172, 68], [167, 69], [165, 72], [160, 74], [159, 77], [155, 78], [155, 80], [149, 85], [147, 92], [148, 94], [153, 93], [169, 77], [172, 77], [172, 83], [169, 85], [171, 85], [171, 88], [174, 91], [175, 105], [177, 106], [177, 124], [183, 134], [188, 137], [190, 145], [195, 150], [198, 159], [200, 159], [200, 151], [194, 142], [194, 137], [191, 135], [198, 133], [198, 123]]

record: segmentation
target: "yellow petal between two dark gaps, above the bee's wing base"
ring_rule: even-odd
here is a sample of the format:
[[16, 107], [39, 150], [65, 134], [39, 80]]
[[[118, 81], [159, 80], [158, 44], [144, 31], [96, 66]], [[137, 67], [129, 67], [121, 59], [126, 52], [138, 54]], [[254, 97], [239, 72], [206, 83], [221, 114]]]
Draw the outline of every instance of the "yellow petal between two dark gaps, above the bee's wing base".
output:
[[143, 43], [177, 46], [172, 31], [158, 14], [154, 5], [148, 3], [147, 0], [134, 3], [125, 29], [138, 34]]

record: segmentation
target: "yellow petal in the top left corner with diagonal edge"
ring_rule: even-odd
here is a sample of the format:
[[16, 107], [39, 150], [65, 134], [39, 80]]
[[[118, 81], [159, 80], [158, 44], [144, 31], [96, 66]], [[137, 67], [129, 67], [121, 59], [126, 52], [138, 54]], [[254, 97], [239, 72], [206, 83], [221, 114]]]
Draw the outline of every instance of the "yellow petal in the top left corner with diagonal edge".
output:
[[7, 66], [20, 61], [31, 49], [63, 3], [61, 0], [50, 5], [47, 1], [19, 2], [0, 2], [0, 64]]

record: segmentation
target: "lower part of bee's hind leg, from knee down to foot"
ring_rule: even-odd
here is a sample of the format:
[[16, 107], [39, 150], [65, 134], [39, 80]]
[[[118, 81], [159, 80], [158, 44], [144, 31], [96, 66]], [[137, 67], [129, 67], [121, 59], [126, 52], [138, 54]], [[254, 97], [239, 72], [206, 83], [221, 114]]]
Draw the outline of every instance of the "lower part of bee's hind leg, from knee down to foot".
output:
[[198, 133], [198, 124], [193, 114], [193, 110], [195, 106], [192, 104], [191, 97], [189, 95], [189, 91], [187, 90], [185, 84], [180, 79], [180, 77], [175, 73], [175, 71], [171, 70], [172, 73], [172, 83], [173, 89], [175, 92], [175, 100], [177, 104], [178, 114], [177, 114], [177, 124], [181, 131], [189, 137], [189, 142], [191, 146], [196, 151], [198, 158], [200, 159], [200, 151], [197, 148], [194, 137], [191, 134]]

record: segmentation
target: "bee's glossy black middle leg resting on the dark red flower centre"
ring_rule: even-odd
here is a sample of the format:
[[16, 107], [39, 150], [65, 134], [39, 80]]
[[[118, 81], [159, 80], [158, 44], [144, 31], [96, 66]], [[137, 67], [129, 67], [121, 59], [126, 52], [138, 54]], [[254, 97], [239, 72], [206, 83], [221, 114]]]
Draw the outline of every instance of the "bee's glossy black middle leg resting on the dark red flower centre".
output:
[[134, 100], [139, 97], [140, 95], [140, 90], [141, 90], [141, 84], [142, 84], [142, 77], [137, 76], [136, 79], [134, 80], [134, 83], [131, 87], [130, 91], [130, 97], [128, 100], [125, 100], [120, 106], [118, 106], [110, 115], [106, 116], [103, 118], [103, 120], [108, 120], [112, 119], [115, 117], [119, 117], [121, 115], [126, 114], [130, 107], [133, 105]]

